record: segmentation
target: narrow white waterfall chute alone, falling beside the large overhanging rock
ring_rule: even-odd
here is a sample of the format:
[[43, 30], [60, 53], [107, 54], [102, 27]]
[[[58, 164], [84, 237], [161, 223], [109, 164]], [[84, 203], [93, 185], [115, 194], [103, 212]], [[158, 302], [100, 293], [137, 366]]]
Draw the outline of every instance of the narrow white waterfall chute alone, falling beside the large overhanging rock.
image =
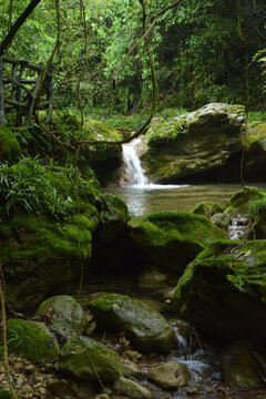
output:
[[145, 186], [147, 177], [144, 175], [141, 161], [137, 156], [137, 145], [141, 139], [134, 139], [132, 142], [123, 144], [123, 172], [120, 180], [122, 186]]

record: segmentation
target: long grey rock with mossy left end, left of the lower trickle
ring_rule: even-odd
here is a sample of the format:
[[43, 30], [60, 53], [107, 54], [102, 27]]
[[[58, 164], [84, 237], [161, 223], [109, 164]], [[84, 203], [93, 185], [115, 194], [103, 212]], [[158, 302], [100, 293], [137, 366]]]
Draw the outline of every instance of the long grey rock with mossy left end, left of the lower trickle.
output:
[[123, 331], [143, 352], [168, 352], [174, 331], [157, 311], [125, 295], [103, 295], [89, 304], [98, 324], [106, 330]]

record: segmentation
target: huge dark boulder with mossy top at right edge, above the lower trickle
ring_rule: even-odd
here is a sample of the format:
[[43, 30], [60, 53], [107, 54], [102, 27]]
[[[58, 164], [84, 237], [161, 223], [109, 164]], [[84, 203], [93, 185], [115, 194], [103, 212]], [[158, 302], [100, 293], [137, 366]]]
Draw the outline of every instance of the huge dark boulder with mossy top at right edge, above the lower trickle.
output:
[[213, 340], [266, 334], [266, 241], [212, 243], [176, 286], [176, 309]]

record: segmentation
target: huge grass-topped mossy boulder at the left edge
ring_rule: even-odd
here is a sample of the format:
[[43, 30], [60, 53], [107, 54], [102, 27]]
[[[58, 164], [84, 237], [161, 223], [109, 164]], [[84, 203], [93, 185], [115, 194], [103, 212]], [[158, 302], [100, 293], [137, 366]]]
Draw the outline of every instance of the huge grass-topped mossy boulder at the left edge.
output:
[[81, 258], [84, 269], [90, 268], [100, 191], [95, 177], [79, 175], [76, 202], [70, 172], [31, 158], [0, 170], [0, 262], [12, 309], [33, 308], [49, 295], [64, 294], [80, 278]]

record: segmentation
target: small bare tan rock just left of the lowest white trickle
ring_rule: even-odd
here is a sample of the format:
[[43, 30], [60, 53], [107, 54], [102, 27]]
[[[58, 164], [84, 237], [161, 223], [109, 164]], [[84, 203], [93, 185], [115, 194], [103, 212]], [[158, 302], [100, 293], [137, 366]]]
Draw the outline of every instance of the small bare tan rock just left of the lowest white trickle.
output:
[[184, 387], [188, 381], [188, 370], [185, 365], [170, 360], [153, 367], [147, 377], [161, 388], [176, 389]]

